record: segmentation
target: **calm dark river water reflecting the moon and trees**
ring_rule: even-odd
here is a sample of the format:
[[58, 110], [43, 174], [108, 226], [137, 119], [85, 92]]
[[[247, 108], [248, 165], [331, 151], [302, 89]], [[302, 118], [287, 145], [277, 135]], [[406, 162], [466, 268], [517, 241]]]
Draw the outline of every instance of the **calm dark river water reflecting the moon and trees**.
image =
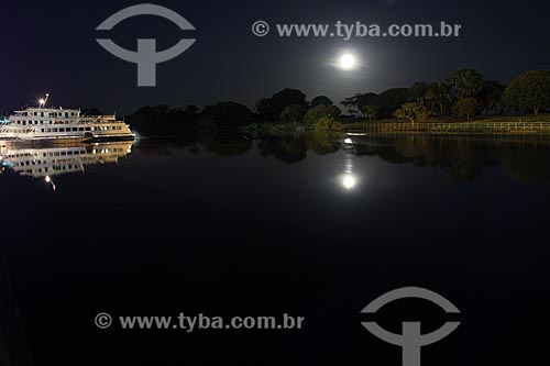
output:
[[[461, 312], [375, 314], [394, 333], [461, 322], [422, 365], [548, 358], [550, 140], [219, 133], [1, 155], [2, 366], [397, 366], [361, 311], [409, 286]], [[117, 324], [182, 312], [305, 320]]]

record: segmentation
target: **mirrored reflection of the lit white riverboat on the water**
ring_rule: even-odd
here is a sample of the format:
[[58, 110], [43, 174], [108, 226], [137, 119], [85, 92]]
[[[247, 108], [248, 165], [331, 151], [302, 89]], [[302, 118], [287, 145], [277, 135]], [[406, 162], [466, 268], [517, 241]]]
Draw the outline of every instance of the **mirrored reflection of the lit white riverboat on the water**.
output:
[[55, 176], [84, 173], [85, 167], [117, 164], [132, 152], [133, 141], [73, 144], [7, 144], [0, 145], [2, 171], [44, 179], [55, 190]]

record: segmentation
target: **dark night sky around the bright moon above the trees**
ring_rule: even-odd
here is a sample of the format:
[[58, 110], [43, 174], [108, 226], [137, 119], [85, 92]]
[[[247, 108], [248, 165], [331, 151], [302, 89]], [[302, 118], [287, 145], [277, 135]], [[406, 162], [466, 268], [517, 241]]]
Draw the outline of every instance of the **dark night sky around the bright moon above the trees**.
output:
[[[96, 27], [140, 1], [11, 1], [0, 3], [0, 110], [32, 104], [43, 93], [56, 106], [97, 107], [131, 113], [140, 106], [204, 106], [234, 100], [253, 107], [262, 97], [297, 88], [308, 99], [339, 102], [356, 92], [381, 92], [415, 81], [443, 80], [461, 68], [509, 82], [550, 65], [548, 0], [526, 1], [182, 1], [158, 0], [196, 31], [182, 32], [156, 16], [138, 16], [108, 34]], [[433, 23], [463, 25], [459, 38], [256, 37], [257, 20], [275, 23]], [[272, 33], [273, 26], [272, 26]], [[106, 36], [107, 35], [107, 36]], [[157, 38], [164, 49], [179, 38], [197, 42], [157, 67], [157, 87], [138, 88], [136, 67], [107, 53], [97, 37], [125, 48]], [[364, 67], [344, 73], [330, 65], [342, 49]]]

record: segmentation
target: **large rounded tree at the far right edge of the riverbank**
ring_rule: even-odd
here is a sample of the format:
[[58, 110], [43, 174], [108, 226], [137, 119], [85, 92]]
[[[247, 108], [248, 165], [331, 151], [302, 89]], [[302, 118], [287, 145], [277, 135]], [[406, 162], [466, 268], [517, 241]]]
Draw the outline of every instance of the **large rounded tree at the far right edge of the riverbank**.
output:
[[550, 70], [527, 71], [514, 80], [504, 92], [504, 101], [509, 107], [532, 110], [550, 108]]

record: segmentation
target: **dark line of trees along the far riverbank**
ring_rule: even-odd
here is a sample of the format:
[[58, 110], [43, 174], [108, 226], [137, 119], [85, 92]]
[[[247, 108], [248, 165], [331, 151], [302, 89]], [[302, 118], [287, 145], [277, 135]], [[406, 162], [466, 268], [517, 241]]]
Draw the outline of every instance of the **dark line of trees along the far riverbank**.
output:
[[279, 123], [319, 130], [338, 129], [349, 121], [425, 122], [429, 117], [458, 121], [477, 115], [539, 114], [550, 110], [550, 71], [532, 70], [515, 78], [508, 86], [486, 80], [472, 69], [452, 73], [444, 81], [414, 84], [381, 93], [363, 92], [341, 101], [346, 114], [327, 96], [311, 101], [298, 89], [283, 89], [260, 99], [254, 110], [234, 101], [199, 108], [173, 108], [168, 104], [142, 107], [127, 122], [142, 135], [179, 135], [215, 129]]

